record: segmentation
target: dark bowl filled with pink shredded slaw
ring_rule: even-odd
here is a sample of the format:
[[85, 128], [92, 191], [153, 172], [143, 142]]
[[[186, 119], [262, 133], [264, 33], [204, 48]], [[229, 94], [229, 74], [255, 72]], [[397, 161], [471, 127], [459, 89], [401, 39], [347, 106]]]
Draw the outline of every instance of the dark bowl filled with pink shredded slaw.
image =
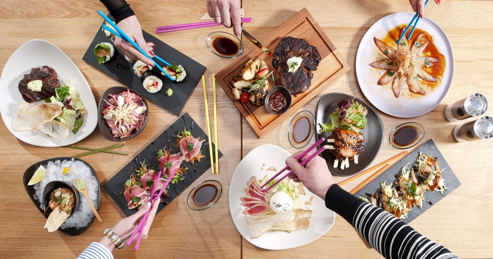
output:
[[[111, 130], [109, 129], [108, 125], [106, 124], [106, 119], [103, 117], [103, 111], [105, 110], [105, 101], [104, 100], [107, 100], [108, 99], [108, 96], [109, 94], [119, 94], [123, 91], [126, 91], [126, 90], [130, 90], [130, 92], [132, 93], [135, 93], [136, 95], [138, 95], [139, 97], [141, 97], [142, 99], [142, 103], [143, 103], [143, 106], [145, 106], [147, 108], [147, 111], [145, 111], [145, 121], [144, 121], [144, 125], [141, 127], [141, 129], [137, 132], [135, 132], [133, 135], [131, 135], [130, 137], [128, 138], [120, 138], [120, 137], [115, 137], [113, 136], [113, 134], [111, 133]], [[147, 120], [149, 119], [149, 106], [147, 105], [147, 102], [145, 101], [145, 98], [140, 94], [138, 93], [137, 91], [135, 91], [134, 89], [132, 88], [129, 88], [129, 87], [126, 87], [126, 86], [113, 86], [113, 87], [109, 87], [106, 89], [106, 91], [101, 95], [101, 98], [99, 99], [99, 104], [98, 104], [98, 126], [99, 126], [99, 129], [101, 131], [101, 134], [103, 134], [103, 136], [107, 139], [107, 140], [110, 140], [110, 141], [126, 141], [126, 140], [129, 140], [137, 135], [139, 135], [139, 133], [141, 133], [141, 131], [144, 129], [145, 125], [147, 124]]]

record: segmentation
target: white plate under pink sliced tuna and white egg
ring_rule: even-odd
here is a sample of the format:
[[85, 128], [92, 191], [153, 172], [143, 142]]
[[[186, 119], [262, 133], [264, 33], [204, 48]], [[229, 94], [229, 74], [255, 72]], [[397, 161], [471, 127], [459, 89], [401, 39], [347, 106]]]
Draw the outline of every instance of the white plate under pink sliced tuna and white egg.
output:
[[[248, 225], [242, 212], [245, 207], [240, 201], [240, 197], [245, 196], [248, 180], [251, 176], [263, 178], [265, 174], [269, 174], [269, 177], [272, 177], [275, 172], [267, 171], [267, 169], [276, 167], [281, 170], [286, 165], [284, 161], [289, 156], [290, 154], [286, 150], [276, 145], [265, 144], [255, 147], [242, 159], [231, 179], [229, 188], [231, 217], [236, 229], [238, 229], [243, 238], [256, 247], [269, 250], [299, 247], [315, 241], [334, 225], [335, 213], [325, 207], [325, 202], [322, 199], [316, 197], [313, 203], [308, 205], [308, 209], [313, 210], [313, 217], [310, 219], [310, 228], [308, 230], [296, 230], [291, 233], [269, 231], [258, 238], [250, 239], [248, 237]], [[262, 164], [265, 164], [265, 166], [262, 166]], [[312, 196], [315, 195], [307, 190], [307, 194], [302, 197], [305, 201], [308, 201]]]

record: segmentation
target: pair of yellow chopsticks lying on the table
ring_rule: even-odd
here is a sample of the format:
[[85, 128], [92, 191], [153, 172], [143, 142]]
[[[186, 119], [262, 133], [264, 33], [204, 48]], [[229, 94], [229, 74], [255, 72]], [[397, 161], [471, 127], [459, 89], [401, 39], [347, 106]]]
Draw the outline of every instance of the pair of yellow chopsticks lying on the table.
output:
[[[211, 142], [211, 121], [209, 119], [209, 103], [207, 101], [207, 87], [204, 75], [202, 75], [202, 86], [204, 89], [204, 104], [206, 106], [206, 120], [207, 120], [207, 135], [209, 140], [209, 153], [211, 156], [211, 171], [212, 174], [219, 173], [219, 160], [218, 160], [218, 149], [217, 149], [217, 107], [216, 107], [216, 80], [215, 75], [212, 75], [212, 102], [213, 102], [213, 115], [214, 115], [214, 155], [215, 155], [215, 165], [214, 156], [212, 155], [212, 142]], [[215, 172], [214, 172], [215, 166]]]

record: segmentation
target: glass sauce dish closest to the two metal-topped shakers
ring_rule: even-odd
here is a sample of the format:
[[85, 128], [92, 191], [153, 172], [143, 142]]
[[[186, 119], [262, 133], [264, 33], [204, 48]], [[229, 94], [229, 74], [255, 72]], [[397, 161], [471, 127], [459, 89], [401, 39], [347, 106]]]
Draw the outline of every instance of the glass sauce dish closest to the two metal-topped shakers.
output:
[[388, 142], [395, 148], [406, 149], [418, 144], [424, 137], [424, 128], [416, 122], [406, 122], [395, 127]]

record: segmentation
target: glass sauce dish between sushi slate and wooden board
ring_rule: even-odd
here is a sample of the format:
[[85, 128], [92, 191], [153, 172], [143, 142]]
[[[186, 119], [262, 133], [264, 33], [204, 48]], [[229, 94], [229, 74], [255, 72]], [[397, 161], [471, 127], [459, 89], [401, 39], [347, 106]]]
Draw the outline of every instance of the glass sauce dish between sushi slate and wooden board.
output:
[[209, 50], [221, 58], [237, 58], [243, 53], [243, 42], [231, 33], [214, 31], [206, 38]]

